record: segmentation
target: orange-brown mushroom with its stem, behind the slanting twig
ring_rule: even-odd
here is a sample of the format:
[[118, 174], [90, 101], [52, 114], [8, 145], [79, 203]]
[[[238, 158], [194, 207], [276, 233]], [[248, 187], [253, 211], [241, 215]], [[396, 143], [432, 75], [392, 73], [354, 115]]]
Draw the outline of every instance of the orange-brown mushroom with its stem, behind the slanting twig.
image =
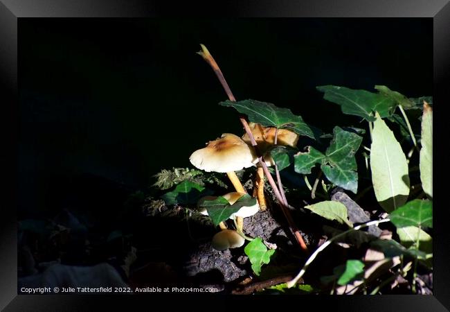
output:
[[[249, 123], [249, 127], [253, 137], [255, 137], [256, 144], [258, 144], [258, 148], [260, 149], [264, 162], [267, 166], [273, 166], [275, 164], [271, 155], [267, 153], [269, 148], [275, 145], [275, 143], [276, 145], [291, 147], [295, 147], [297, 145], [299, 136], [291, 130], [278, 129], [277, 141], [275, 142], [275, 135], [277, 132], [276, 128], [263, 127], [260, 123]], [[242, 140], [244, 140], [247, 144], [251, 144], [249, 135], [246, 133], [242, 136]], [[258, 162], [258, 159], [254, 162]], [[255, 189], [253, 191], [253, 196], [255, 195], [260, 203], [260, 209], [262, 211], [266, 210], [267, 205], [264, 198], [264, 171], [259, 165], [258, 170], [256, 171]]]

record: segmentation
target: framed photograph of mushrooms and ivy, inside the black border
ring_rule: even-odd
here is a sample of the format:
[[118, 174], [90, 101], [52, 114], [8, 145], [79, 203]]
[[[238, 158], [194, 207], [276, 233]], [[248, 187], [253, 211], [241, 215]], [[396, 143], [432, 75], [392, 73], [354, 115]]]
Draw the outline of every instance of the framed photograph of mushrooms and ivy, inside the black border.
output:
[[434, 295], [433, 19], [17, 27], [19, 295]]

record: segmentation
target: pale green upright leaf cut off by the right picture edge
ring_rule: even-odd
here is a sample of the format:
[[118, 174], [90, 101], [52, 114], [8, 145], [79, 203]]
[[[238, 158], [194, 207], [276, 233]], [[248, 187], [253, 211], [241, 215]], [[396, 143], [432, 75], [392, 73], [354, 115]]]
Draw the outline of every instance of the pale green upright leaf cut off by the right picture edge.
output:
[[422, 116], [422, 139], [420, 140], [420, 181], [426, 195], [433, 198], [433, 110], [424, 108]]

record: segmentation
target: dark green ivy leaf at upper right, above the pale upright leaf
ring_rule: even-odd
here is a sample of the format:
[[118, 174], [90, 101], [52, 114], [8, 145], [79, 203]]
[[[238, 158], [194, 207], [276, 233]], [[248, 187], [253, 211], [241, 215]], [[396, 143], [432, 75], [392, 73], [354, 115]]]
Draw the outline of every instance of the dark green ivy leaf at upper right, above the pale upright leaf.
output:
[[376, 94], [366, 90], [354, 90], [335, 85], [316, 87], [318, 91], [325, 92], [325, 100], [341, 105], [344, 114], [363, 117], [367, 121], [375, 121], [375, 112], [381, 117], [393, 114], [397, 103], [383, 94]]

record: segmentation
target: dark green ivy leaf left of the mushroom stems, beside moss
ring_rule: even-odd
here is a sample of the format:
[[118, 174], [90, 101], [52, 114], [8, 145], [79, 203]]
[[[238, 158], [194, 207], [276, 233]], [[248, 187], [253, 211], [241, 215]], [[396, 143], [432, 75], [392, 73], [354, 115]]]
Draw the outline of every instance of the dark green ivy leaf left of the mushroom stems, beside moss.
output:
[[202, 196], [210, 195], [212, 192], [200, 184], [184, 180], [175, 187], [173, 191], [165, 193], [163, 198], [165, 205], [187, 205], [195, 204]]

